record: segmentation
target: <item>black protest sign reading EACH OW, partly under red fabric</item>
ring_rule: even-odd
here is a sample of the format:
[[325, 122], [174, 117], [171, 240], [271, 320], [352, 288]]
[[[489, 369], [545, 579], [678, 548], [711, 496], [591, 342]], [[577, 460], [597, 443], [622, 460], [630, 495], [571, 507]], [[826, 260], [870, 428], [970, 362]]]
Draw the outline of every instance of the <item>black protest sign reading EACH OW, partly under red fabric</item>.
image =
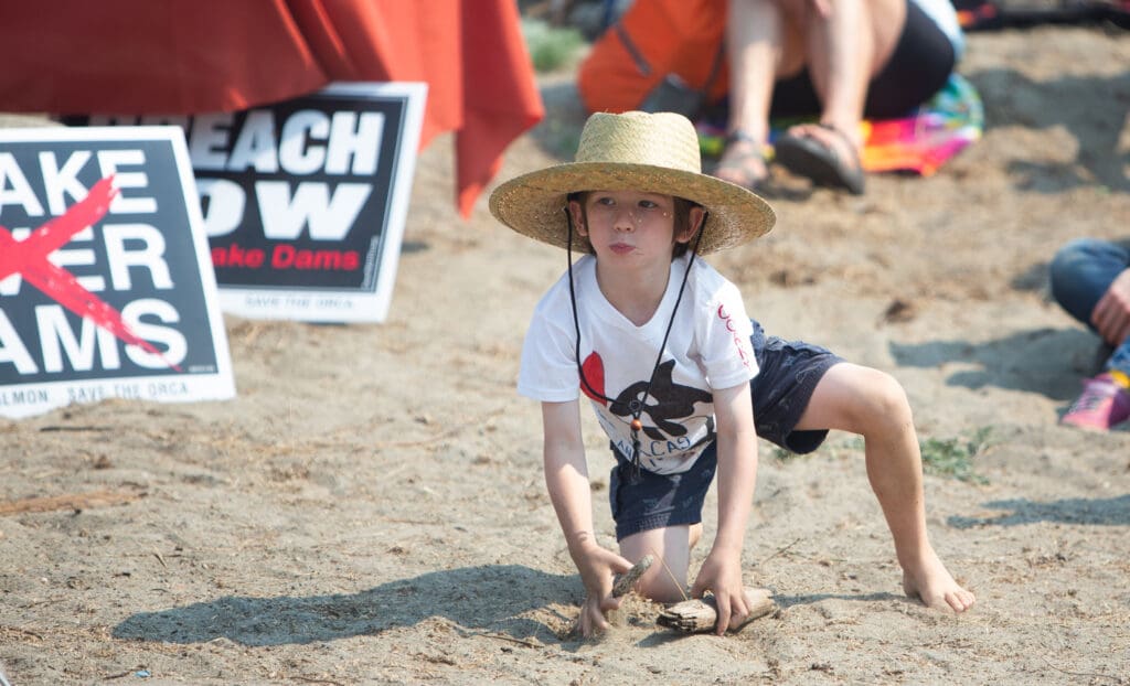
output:
[[388, 314], [426, 84], [333, 84], [241, 112], [89, 116], [185, 133], [225, 312], [312, 322]]

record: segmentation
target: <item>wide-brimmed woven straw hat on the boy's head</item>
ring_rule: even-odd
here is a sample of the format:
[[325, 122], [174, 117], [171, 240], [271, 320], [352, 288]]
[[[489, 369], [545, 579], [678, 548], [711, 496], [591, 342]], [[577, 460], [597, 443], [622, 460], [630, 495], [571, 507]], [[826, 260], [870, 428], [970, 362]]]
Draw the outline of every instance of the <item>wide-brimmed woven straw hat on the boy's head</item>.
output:
[[[706, 208], [699, 254], [756, 238], [775, 220], [768, 203], [751, 191], [702, 173], [694, 124], [671, 112], [593, 114], [581, 131], [574, 162], [503, 183], [490, 193], [490, 214], [520, 234], [565, 248], [566, 197], [619, 190], [677, 196]], [[592, 252], [575, 232], [573, 250]]]

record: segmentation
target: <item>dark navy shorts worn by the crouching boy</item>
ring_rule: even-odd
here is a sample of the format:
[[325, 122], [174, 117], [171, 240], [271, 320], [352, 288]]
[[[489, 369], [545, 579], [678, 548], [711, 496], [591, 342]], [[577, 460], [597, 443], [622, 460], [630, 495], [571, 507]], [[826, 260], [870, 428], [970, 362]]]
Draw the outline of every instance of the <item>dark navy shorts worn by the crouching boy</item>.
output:
[[[808, 408], [824, 373], [843, 358], [819, 346], [765, 336], [762, 325], [750, 321], [754, 324], [750, 342], [760, 367], [749, 382], [757, 435], [792, 452], [811, 452], [824, 442], [827, 429], [793, 431], [793, 427]], [[609, 478], [608, 500], [616, 520], [616, 540], [650, 529], [702, 521], [706, 492], [718, 470], [714, 442], [681, 474], [655, 474], [643, 468], [636, 472], [626, 455], [616, 449], [612, 454], [616, 467]]]

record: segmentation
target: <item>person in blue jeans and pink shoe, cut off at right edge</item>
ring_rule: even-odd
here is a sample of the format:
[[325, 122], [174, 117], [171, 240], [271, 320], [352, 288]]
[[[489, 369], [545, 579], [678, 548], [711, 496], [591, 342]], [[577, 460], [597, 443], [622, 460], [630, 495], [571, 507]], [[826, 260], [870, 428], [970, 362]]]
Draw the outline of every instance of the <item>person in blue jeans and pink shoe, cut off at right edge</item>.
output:
[[1051, 286], [1055, 301], [1106, 346], [1102, 372], [1084, 380], [1060, 422], [1109, 431], [1130, 418], [1130, 245], [1071, 241], [1052, 260]]

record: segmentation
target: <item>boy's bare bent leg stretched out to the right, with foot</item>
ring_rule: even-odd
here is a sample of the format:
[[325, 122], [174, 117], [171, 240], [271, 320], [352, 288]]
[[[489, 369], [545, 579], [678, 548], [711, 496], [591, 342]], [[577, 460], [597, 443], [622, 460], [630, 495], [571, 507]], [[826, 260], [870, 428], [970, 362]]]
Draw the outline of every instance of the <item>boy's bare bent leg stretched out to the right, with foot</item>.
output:
[[903, 590], [929, 607], [956, 613], [973, 606], [930, 545], [922, 457], [910, 402], [889, 374], [851, 363], [828, 370], [798, 429], [835, 428], [863, 436], [867, 476], [883, 509], [903, 568]]

